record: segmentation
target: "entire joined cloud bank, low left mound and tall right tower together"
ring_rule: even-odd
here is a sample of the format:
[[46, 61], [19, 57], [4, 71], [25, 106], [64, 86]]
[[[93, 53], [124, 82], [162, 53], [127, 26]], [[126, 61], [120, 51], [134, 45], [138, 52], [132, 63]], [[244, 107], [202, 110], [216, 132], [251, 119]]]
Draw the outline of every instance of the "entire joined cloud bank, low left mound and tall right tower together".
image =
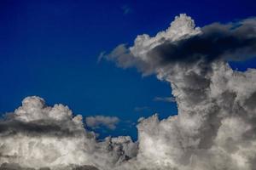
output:
[[[96, 141], [81, 116], [38, 97], [0, 123], [0, 164], [52, 169], [253, 170], [256, 167], [256, 70], [228, 60], [256, 55], [256, 19], [195, 27], [186, 14], [155, 37], [138, 36], [104, 56], [170, 82], [177, 116], [157, 115], [129, 137]], [[168, 95], [168, 94], [166, 94]], [[85, 127], [86, 128], [86, 127]], [[138, 147], [137, 147], [138, 144]], [[0, 167], [1, 169], [1, 167]]]

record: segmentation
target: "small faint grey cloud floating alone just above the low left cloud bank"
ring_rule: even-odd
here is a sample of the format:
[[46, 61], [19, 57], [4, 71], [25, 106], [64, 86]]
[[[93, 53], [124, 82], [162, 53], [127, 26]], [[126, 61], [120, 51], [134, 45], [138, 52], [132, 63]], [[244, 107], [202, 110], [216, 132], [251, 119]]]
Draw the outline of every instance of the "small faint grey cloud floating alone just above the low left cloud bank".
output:
[[119, 118], [116, 116], [88, 116], [85, 118], [85, 122], [88, 127], [99, 128], [103, 126], [114, 130], [116, 124], [119, 123]]

